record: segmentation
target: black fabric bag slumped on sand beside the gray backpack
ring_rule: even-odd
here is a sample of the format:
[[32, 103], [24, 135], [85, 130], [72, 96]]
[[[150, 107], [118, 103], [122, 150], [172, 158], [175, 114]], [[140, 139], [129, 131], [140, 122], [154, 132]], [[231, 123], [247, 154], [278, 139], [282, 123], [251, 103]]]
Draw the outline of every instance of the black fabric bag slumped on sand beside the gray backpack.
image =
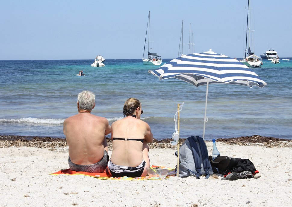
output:
[[249, 159], [221, 156], [212, 160], [212, 156], [209, 156], [209, 160], [213, 172], [221, 175], [227, 175], [228, 173], [241, 173], [243, 171], [250, 171], [254, 174], [256, 171], [256, 168]]

